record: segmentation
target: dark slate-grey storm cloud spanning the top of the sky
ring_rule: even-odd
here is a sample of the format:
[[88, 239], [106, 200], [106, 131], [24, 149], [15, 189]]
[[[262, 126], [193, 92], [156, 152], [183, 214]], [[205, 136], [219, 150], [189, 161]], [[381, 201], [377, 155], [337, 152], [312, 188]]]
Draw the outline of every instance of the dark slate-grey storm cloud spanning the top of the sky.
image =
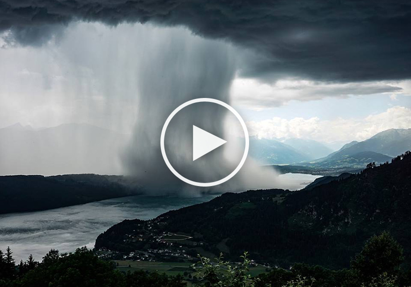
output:
[[410, 11], [408, 0], [0, 0], [0, 29], [28, 44], [71, 20], [185, 25], [252, 48], [244, 76], [350, 82], [411, 78]]

